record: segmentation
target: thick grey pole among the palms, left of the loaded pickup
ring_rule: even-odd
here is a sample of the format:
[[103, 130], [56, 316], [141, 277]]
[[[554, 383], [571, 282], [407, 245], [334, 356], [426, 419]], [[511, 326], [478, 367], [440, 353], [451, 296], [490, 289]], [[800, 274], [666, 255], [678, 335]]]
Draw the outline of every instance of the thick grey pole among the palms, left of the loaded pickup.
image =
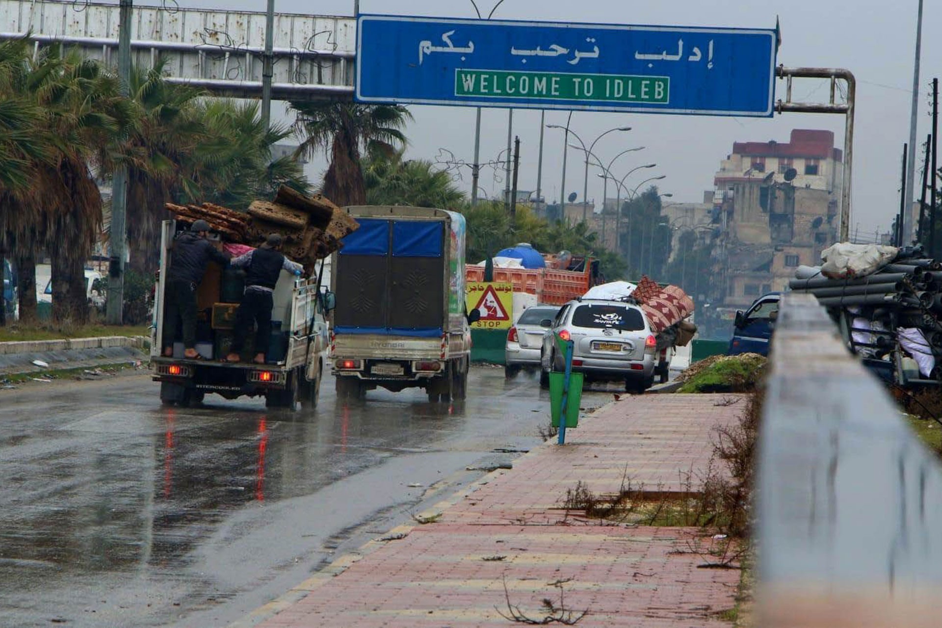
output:
[[[132, 0], [121, 0], [118, 17], [118, 78], [122, 96], [131, 86]], [[119, 164], [111, 180], [111, 227], [108, 233], [108, 297], [105, 318], [108, 325], [121, 325], [124, 311], [124, 257], [127, 251], [127, 166]]]

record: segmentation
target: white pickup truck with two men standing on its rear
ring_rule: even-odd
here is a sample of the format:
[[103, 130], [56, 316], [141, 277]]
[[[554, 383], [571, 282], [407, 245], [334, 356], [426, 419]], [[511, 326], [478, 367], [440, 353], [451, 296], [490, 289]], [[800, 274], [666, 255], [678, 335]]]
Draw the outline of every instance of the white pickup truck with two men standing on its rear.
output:
[[[171, 263], [176, 231], [174, 220], [164, 221], [160, 247], [162, 269]], [[299, 279], [283, 270], [275, 286], [271, 316], [273, 325], [280, 329], [277, 338], [272, 338], [267, 363], [219, 362], [228, 353], [228, 343], [232, 341], [238, 298], [232, 296], [232, 290], [223, 289], [222, 270], [218, 264], [210, 263], [197, 288], [196, 348], [202, 360], [185, 359], [179, 343], [174, 346], [174, 357], [161, 355], [166, 273], [159, 275], [154, 292], [151, 365], [154, 380], [160, 382], [160, 401], [187, 406], [202, 402], [207, 393], [216, 393], [227, 399], [264, 395], [269, 408], [295, 409], [299, 401], [309, 408], [316, 407], [327, 358], [325, 315], [333, 308], [333, 294], [321, 288], [319, 276]]]

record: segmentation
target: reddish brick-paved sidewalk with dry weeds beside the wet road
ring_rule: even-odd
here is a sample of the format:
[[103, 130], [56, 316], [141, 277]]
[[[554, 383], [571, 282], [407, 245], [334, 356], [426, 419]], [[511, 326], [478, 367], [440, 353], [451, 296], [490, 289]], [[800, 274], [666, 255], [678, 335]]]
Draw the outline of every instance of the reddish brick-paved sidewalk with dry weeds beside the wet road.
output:
[[739, 571], [698, 567], [713, 542], [703, 530], [602, 525], [560, 505], [578, 481], [595, 493], [617, 492], [625, 476], [685, 491], [683, 477], [707, 469], [712, 428], [745, 406], [728, 400], [623, 397], [567, 430], [566, 445], [538, 447], [423, 513], [434, 523], [370, 541], [236, 625], [509, 626], [498, 613], [508, 600], [542, 619], [544, 599], [560, 605], [559, 581], [565, 608], [589, 611], [579, 626], [724, 625]]

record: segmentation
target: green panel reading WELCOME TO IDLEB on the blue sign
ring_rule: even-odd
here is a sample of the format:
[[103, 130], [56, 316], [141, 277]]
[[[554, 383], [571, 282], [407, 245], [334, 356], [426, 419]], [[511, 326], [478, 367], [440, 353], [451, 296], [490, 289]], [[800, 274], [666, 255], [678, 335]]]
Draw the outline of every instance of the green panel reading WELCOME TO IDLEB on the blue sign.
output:
[[671, 79], [666, 76], [455, 71], [456, 96], [514, 96], [667, 105], [670, 101], [670, 86]]

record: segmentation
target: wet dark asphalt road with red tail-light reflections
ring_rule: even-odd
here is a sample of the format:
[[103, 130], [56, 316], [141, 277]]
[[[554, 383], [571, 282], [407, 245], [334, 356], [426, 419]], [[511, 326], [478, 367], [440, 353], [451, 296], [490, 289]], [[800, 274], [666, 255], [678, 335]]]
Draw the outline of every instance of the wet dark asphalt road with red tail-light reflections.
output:
[[549, 420], [535, 377], [489, 367], [454, 405], [413, 389], [341, 406], [333, 378], [316, 411], [157, 393], [148, 376], [0, 391], [0, 626], [225, 626]]

